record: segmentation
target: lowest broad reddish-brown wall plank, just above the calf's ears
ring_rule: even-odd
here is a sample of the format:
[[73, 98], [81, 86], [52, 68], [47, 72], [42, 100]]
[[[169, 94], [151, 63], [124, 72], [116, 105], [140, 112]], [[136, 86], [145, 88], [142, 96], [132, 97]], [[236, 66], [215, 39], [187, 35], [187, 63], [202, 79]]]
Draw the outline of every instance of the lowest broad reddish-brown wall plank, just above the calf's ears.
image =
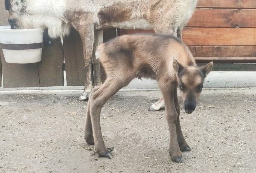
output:
[[194, 57], [256, 57], [256, 46], [189, 46]]

